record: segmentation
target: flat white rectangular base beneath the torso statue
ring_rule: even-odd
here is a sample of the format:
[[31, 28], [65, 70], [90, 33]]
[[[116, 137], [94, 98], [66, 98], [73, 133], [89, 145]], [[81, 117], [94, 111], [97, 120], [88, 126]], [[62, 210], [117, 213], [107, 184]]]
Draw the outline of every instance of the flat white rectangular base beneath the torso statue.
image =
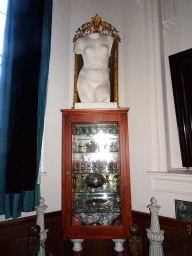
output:
[[108, 109], [117, 108], [117, 102], [93, 102], [93, 103], [75, 103], [75, 109]]

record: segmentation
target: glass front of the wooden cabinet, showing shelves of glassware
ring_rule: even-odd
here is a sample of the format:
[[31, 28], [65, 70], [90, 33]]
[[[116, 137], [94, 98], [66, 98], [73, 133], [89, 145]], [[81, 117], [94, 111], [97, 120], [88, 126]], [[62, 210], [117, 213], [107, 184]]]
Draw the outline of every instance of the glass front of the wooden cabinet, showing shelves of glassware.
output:
[[121, 225], [118, 123], [72, 126], [72, 225]]

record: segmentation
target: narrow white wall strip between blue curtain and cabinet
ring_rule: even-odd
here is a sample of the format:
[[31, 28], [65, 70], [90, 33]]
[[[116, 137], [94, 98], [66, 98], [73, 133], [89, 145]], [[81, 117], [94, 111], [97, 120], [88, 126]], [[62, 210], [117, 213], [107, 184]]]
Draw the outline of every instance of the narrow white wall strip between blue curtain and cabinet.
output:
[[60, 109], [69, 108], [70, 0], [54, 1], [50, 72], [44, 131], [41, 196], [48, 212], [61, 210], [61, 132]]

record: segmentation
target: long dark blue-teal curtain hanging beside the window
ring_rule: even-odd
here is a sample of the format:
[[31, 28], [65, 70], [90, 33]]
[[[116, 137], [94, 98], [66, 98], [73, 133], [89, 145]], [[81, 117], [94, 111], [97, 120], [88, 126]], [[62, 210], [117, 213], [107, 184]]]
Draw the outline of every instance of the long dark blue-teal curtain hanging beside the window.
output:
[[0, 215], [39, 204], [52, 0], [9, 0], [0, 75]]

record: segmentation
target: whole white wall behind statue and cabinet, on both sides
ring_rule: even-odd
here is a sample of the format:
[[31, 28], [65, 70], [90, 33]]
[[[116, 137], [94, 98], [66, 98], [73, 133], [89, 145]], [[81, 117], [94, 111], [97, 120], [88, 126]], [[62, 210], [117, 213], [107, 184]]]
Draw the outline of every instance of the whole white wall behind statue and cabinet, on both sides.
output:
[[[162, 0], [166, 4], [169, 1]], [[47, 176], [42, 176], [41, 183], [42, 196], [48, 205], [47, 212], [61, 210], [60, 109], [72, 107], [72, 40], [75, 31], [96, 13], [116, 27], [122, 39], [119, 45], [119, 102], [121, 107], [130, 107], [132, 209], [148, 212], [150, 198], [155, 196], [161, 206], [160, 215], [174, 218], [174, 199], [191, 201], [191, 195], [152, 191], [147, 175], [148, 171], [167, 172], [170, 168], [181, 167], [168, 56], [192, 47], [191, 0], [175, 1], [176, 21], [164, 32], [157, 20], [160, 12], [155, 13], [160, 11], [157, 3], [160, 2], [54, 2], [43, 157], [43, 169]], [[160, 43], [163, 46], [161, 51]], [[165, 59], [165, 71], [160, 57]], [[22, 216], [31, 214], [34, 213]]]

